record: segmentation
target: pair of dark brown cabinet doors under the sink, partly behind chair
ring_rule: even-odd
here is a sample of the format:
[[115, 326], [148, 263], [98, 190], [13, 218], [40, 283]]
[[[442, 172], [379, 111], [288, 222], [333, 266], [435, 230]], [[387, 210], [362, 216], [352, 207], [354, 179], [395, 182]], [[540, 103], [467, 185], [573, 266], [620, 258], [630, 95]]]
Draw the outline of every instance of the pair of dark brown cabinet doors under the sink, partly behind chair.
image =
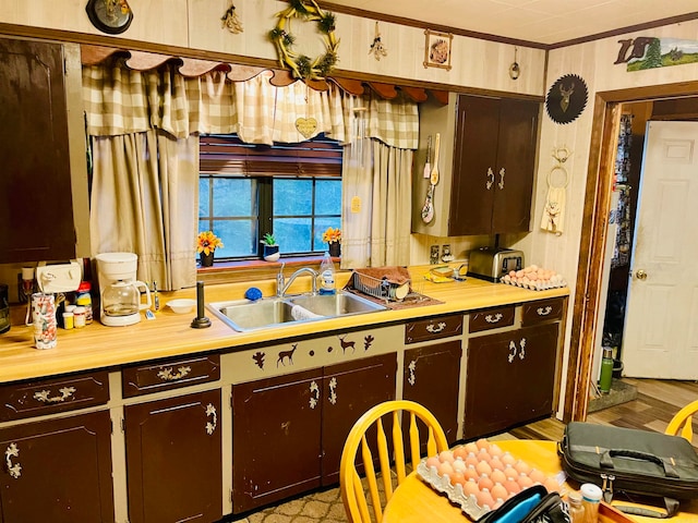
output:
[[395, 398], [396, 370], [386, 354], [233, 385], [233, 512], [337, 483], [349, 430]]

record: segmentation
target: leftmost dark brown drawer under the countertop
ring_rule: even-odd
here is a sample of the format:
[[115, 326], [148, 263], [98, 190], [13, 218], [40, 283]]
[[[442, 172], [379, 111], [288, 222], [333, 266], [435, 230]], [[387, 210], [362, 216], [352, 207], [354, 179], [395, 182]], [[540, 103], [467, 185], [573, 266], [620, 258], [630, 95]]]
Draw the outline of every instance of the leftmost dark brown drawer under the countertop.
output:
[[3, 385], [0, 387], [0, 422], [74, 411], [107, 401], [109, 374], [106, 370]]

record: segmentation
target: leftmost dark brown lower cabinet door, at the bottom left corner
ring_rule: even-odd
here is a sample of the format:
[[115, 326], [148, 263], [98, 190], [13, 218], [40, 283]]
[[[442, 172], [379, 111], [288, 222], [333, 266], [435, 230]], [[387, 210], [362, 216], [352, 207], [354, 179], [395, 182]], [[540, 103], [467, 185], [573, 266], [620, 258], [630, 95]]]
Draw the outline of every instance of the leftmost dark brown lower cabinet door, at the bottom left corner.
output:
[[0, 429], [0, 521], [115, 521], [107, 411]]

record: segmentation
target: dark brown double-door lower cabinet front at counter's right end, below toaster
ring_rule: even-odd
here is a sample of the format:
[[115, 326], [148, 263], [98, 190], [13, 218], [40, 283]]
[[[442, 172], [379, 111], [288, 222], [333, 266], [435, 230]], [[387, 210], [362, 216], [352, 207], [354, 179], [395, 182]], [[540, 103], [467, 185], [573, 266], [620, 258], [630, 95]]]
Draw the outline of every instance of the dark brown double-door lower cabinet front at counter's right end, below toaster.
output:
[[547, 324], [469, 340], [466, 439], [552, 413], [557, 329]]

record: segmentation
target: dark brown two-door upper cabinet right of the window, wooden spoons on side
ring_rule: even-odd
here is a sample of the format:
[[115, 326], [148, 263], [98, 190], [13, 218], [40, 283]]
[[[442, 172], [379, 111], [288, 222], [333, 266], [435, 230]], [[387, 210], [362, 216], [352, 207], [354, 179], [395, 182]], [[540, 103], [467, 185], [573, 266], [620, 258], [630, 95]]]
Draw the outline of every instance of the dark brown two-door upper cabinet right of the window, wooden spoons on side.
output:
[[[437, 236], [529, 230], [540, 104], [450, 94], [446, 106], [420, 106], [420, 144], [413, 177], [412, 231]], [[440, 134], [434, 219], [421, 209], [430, 181], [422, 177], [428, 143]]]

